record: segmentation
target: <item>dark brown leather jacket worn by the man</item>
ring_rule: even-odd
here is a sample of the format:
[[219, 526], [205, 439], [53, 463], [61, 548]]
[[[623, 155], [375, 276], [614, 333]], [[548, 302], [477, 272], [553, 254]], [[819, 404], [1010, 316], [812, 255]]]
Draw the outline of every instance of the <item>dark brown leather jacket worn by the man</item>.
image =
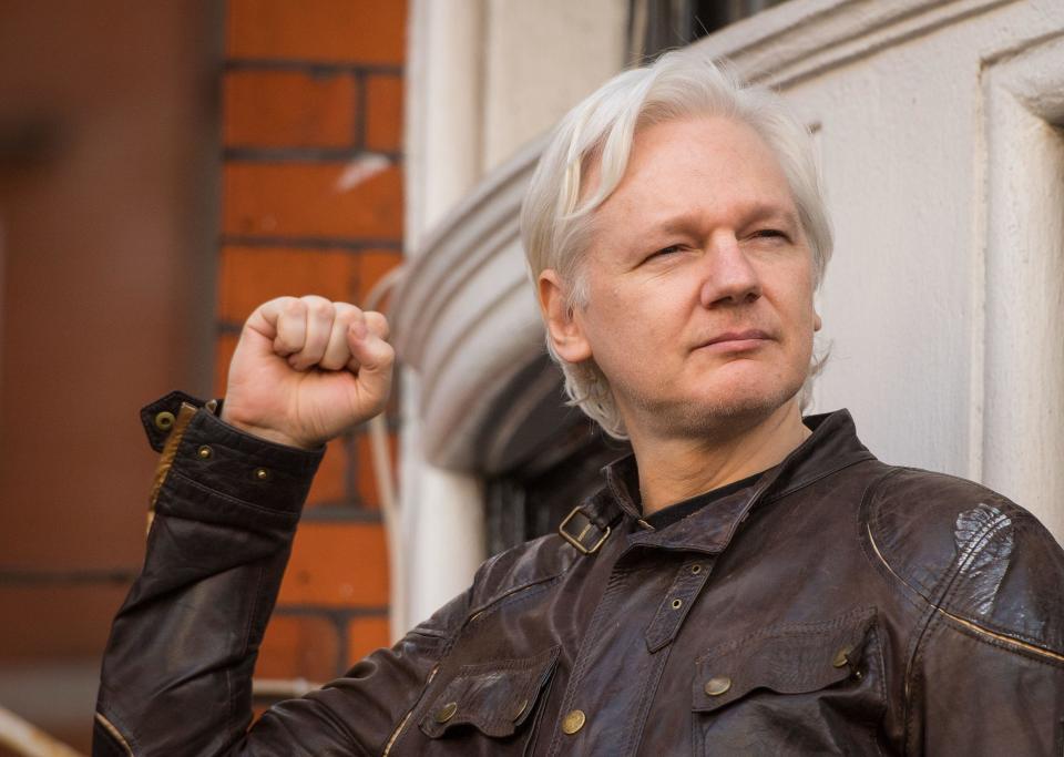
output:
[[879, 462], [846, 411], [658, 531], [632, 463], [613, 466], [567, 538], [492, 557], [391, 649], [248, 730], [318, 456], [175, 415], [94, 754], [1062, 754], [1061, 548], [992, 491]]

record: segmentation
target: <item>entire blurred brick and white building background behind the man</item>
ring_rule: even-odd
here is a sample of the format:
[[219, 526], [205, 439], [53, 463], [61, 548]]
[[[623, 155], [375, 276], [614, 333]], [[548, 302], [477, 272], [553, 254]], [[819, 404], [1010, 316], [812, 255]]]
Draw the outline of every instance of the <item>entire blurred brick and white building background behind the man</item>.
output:
[[562, 403], [516, 209], [569, 108], [685, 45], [815, 134], [812, 411], [1064, 535], [1061, 3], [0, 0], [0, 707], [88, 751], [143, 556], [137, 409], [222, 396], [270, 297], [377, 303], [402, 369], [377, 430], [329, 446], [259, 706], [556, 528], [625, 447]]

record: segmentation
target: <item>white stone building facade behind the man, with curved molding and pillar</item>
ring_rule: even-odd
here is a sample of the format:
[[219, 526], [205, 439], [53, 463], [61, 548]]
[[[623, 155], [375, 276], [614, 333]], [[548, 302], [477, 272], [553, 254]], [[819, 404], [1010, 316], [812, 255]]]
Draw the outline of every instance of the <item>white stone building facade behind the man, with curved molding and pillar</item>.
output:
[[[556, 376], [518, 206], [550, 126], [626, 64], [627, 0], [415, 0], [398, 634], [484, 559], [483, 481]], [[698, 40], [814, 131], [836, 252], [814, 412], [1064, 539], [1064, 2], [789, 0]], [[497, 401], [522, 387], [503, 411]], [[510, 397], [511, 395], [507, 395]]]

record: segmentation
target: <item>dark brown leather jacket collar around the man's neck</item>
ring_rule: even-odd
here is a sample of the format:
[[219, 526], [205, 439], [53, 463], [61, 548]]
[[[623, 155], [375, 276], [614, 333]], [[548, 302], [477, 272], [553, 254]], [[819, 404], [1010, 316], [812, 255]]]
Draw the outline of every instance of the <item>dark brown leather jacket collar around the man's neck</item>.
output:
[[[784, 497], [853, 463], [874, 459], [857, 438], [848, 410], [802, 420], [812, 434], [754, 484], [661, 530], [636, 531], [628, 536], [630, 546], [722, 552], [758, 502]], [[603, 473], [606, 485], [593, 499], [592, 511], [602, 522], [613, 522], [622, 515], [638, 521], [643, 513], [635, 457], [630, 454], [606, 466]]]

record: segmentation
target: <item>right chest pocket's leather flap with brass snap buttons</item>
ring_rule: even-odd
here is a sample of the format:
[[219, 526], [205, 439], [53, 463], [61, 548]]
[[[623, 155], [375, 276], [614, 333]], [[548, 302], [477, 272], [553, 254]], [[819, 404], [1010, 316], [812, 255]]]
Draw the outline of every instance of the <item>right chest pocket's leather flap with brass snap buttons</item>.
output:
[[804, 694], [861, 676], [876, 610], [825, 623], [787, 624], [712, 649], [696, 661], [694, 710], [712, 713], [750, 692]]

